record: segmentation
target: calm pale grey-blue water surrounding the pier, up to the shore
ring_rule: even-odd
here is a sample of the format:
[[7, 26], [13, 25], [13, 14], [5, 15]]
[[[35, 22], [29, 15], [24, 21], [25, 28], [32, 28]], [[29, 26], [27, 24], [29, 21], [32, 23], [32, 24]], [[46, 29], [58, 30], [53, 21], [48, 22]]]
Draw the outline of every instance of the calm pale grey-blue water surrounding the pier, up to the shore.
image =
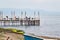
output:
[[24, 30], [26, 33], [60, 37], [60, 16], [41, 16], [41, 26], [4, 27]]

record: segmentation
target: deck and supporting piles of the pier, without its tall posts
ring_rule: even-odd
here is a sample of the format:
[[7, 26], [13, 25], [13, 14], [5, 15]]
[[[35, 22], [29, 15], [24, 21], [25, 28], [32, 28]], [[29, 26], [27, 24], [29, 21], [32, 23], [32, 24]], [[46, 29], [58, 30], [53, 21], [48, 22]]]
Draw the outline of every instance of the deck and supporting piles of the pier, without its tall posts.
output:
[[35, 18], [3, 18], [0, 19], [0, 26], [40, 26], [40, 20]]

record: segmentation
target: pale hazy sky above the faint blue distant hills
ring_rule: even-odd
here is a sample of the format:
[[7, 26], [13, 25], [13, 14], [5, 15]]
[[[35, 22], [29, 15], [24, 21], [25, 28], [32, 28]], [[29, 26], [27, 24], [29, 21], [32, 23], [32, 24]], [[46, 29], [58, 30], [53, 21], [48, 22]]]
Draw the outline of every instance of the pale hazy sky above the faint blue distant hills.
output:
[[31, 8], [60, 11], [60, 0], [0, 0], [0, 8]]

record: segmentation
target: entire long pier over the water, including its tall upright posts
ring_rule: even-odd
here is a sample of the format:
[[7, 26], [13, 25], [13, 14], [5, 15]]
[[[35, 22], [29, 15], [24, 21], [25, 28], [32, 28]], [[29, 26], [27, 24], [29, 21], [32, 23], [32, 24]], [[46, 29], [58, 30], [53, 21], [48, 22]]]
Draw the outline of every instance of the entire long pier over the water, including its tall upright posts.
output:
[[[11, 13], [12, 15], [12, 13]], [[0, 26], [40, 26], [40, 15], [38, 12], [38, 17], [27, 17], [25, 12], [25, 17], [23, 18], [23, 12], [21, 12], [21, 17], [17, 18], [15, 12], [13, 13], [14, 17], [9, 18], [6, 16], [3, 18], [3, 12], [0, 12]], [[35, 12], [34, 12], [35, 16]]]

